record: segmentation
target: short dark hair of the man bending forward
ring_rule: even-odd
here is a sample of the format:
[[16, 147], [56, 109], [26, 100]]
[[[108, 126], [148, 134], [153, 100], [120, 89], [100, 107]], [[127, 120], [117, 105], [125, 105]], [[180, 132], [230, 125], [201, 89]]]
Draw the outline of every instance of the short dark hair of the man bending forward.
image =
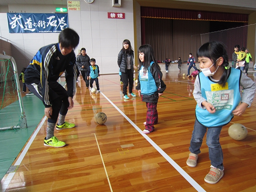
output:
[[74, 49], [79, 43], [79, 35], [74, 30], [66, 28], [60, 32], [59, 43], [62, 47], [68, 48], [71, 46]]

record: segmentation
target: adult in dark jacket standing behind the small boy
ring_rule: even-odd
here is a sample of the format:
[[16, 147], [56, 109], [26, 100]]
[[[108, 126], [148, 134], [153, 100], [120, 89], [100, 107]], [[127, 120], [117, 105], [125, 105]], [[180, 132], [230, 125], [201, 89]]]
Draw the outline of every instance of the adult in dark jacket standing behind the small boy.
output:
[[81, 49], [81, 54], [77, 56], [76, 63], [78, 64], [79, 70], [86, 84], [86, 88], [88, 88], [89, 80], [87, 80], [87, 72], [91, 64], [90, 64], [90, 57], [86, 54], [85, 48]]

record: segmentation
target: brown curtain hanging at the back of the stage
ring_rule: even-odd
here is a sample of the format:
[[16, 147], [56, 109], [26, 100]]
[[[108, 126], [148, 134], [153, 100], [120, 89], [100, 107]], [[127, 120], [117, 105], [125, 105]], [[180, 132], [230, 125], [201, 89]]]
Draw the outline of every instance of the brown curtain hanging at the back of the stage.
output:
[[142, 44], [150, 44], [161, 62], [179, 57], [186, 61], [190, 53], [196, 58], [201, 46], [200, 34], [209, 32], [208, 21], [142, 18], [141, 25]]

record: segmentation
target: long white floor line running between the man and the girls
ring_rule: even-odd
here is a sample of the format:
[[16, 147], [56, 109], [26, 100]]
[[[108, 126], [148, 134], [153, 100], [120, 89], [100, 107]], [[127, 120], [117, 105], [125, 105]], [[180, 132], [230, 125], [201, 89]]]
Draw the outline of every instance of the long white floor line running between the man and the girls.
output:
[[189, 176], [189, 174], [187, 174], [174, 160], [172, 160], [172, 158], [170, 158], [170, 156], [168, 156], [168, 154], [166, 154], [164, 152], [164, 150], [162, 150], [152, 139], [150, 139], [146, 134], [142, 133], [142, 130], [140, 130], [140, 128], [138, 128], [138, 126], [136, 124], [134, 124], [134, 122], [132, 122], [132, 120], [130, 120], [112, 101], [110, 101], [102, 92], [100, 92], [105, 98], [106, 100], [108, 100], [108, 102], [110, 102], [112, 104], [112, 106], [114, 106], [114, 108], [116, 108], [116, 110], [118, 110], [118, 112], [120, 112], [120, 114], [122, 114], [122, 116], [124, 116], [124, 118], [126, 118], [126, 120], [132, 124], [132, 126], [134, 126], [134, 128], [197, 190], [200, 192], [206, 192], [194, 179], [192, 179], [192, 177]]

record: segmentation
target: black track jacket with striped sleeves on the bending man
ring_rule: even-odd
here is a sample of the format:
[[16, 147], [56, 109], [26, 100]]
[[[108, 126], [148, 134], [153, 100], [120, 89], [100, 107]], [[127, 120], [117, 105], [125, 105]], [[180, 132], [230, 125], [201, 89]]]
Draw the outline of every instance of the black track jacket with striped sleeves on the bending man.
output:
[[40, 48], [25, 71], [25, 83], [41, 82], [44, 106], [50, 107], [48, 82], [57, 81], [65, 72], [68, 96], [76, 92], [76, 55], [62, 55], [59, 43]]

